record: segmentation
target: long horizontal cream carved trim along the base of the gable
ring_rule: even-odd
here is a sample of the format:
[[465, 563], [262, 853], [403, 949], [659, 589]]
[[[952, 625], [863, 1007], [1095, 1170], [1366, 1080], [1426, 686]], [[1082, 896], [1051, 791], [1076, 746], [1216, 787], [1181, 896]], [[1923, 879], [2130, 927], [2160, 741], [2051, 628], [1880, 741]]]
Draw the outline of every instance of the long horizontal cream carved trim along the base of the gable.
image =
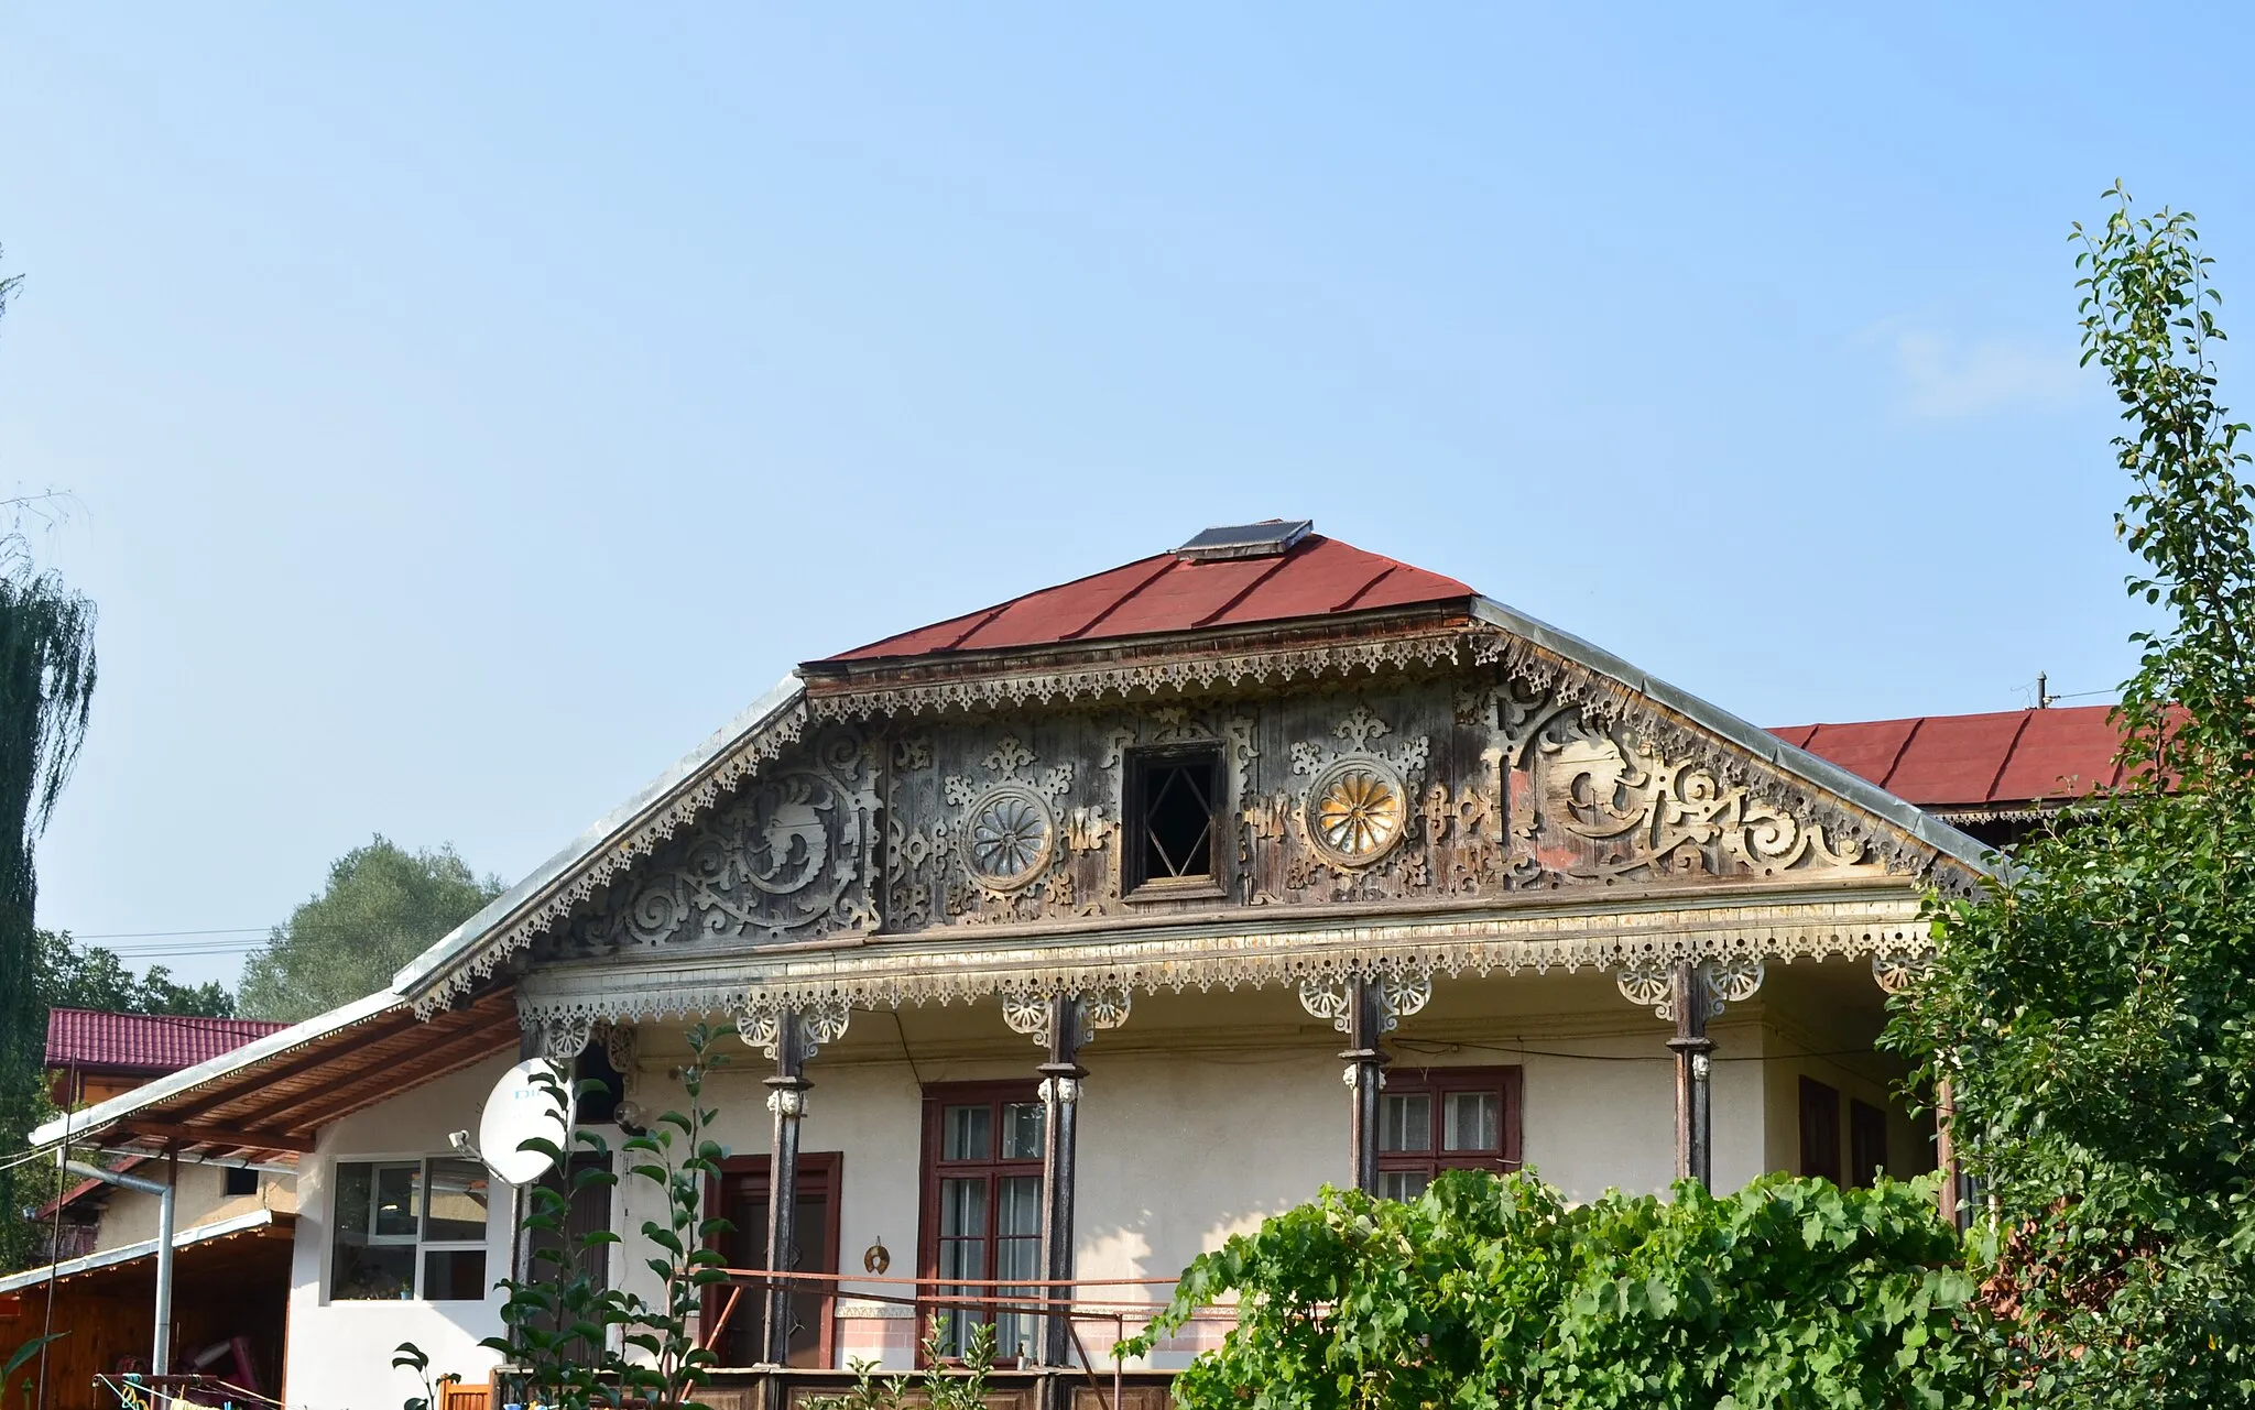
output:
[[1409, 981], [1432, 975], [1603, 972], [1680, 959], [1869, 959], [1928, 952], [1933, 941], [1921, 914], [1921, 898], [1896, 889], [1892, 896], [1703, 909], [1193, 927], [1001, 945], [864, 945], [843, 954], [737, 957], [731, 963], [577, 963], [525, 977], [519, 1006], [537, 1022], [638, 1022], [717, 1017], [762, 1004], [902, 1008], [1100, 988], [1182, 993], [1348, 977]]

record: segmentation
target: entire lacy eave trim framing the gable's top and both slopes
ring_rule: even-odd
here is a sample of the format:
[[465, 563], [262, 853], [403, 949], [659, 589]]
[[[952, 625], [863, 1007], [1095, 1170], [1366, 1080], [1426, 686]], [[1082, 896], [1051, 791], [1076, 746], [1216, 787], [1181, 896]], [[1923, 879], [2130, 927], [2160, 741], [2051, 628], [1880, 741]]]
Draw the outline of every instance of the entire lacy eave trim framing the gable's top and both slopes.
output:
[[424, 1017], [471, 993], [636, 857], [708, 814], [762, 763], [828, 720], [1247, 693], [1473, 668], [1495, 668], [1504, 686], [1549, 690], [1556, 704], [1576, 706], [1594, 724], [1621, 726], [1655, 754], [1694, 760], [1725, 783], [1757, 790], [1766, 803], [1822, 826], [1833, 848], [1858, 844], [1894, 875], [1948, 896], [1978, 891], [1989, 875], [1978, 841], [1865, 778], [1644, 677], [1585, 641], [1475, 598], [1042, 652], [810, 663], [801, 668], [803, 681], [778, 686], [573, 848], [404, 968], [392, 986]]

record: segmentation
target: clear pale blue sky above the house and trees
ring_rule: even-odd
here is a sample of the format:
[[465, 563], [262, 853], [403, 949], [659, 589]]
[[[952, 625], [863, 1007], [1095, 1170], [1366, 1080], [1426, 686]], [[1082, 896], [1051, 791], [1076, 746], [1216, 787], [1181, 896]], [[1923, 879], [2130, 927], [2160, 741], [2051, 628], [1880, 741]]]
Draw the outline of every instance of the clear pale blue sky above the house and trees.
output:
[[1270, 514], [1759, 724], [2120, 681], [2066, 230], [2255, 298], [2246, 20], [1581, 9], [9, 7], [43, 920], [514, 878], [794, 661]]

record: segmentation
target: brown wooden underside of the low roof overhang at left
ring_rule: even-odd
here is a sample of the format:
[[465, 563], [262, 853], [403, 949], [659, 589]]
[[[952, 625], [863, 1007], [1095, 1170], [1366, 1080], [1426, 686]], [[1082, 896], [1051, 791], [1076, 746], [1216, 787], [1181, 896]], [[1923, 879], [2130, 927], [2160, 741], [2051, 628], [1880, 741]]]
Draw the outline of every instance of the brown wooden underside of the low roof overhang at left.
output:
[[[316, 1133], [399, 1092], [516, 1047], [514, 990], [417, 1020], [406, 1002], [214, 1074], [210, 1081], [106, 1101], [72, 1142], [192, 1157], [264, 1155], [291, 1162]], [[83, 1133], [83, 1135], [81, 1135]]]

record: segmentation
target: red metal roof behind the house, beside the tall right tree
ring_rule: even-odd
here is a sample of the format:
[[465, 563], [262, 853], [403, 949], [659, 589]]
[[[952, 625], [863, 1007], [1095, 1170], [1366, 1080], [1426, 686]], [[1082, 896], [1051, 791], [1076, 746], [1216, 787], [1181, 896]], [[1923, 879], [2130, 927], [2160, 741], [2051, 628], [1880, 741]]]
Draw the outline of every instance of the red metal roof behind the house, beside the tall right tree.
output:
[[2079, 799], [2120, 783], [2113, 706], [1793, 724], [1777, 738], [1860, 774], [1905, 803], [1978, 808]]

